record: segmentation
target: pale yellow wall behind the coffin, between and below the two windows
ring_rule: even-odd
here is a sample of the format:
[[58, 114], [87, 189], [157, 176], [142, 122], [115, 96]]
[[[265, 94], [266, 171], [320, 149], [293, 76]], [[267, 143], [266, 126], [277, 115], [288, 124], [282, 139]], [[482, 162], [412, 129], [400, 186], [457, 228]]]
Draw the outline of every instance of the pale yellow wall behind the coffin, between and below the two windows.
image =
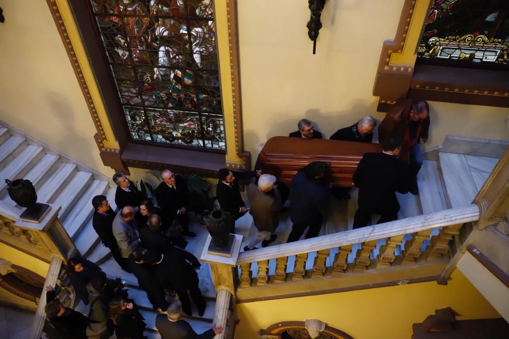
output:
[[[376, 112], [372, 89], [384, 40], [394, 39], [403, 0], [327, 1], [313, 55], [306, 1], [238, 1], [245, 147], [297, 130], [307, 118], [329, 137]], [[430, 102], [431, 136], [509, 140], [509, 109]]]

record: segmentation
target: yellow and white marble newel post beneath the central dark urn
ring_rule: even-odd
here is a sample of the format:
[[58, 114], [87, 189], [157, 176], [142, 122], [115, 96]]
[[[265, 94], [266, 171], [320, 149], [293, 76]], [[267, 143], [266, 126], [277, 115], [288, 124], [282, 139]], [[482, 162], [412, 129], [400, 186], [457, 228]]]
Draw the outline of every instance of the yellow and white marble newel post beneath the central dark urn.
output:
[[232, 295], [235, 295], [234, 277], [236, 274], [234, 274], [234, 271], [237, 268], [237, 259], [239, 257], [240, 245], [242, 244], [242, 236], [235, 235], [235, 240], [233, 244], [231, 244], [231, 257], [210, 254], [209, 244], [211, 240], [212, 237], [209, 235], [200, 260], [210, 264], [212, 281], [214, 282], [216, 290], [216, 310], [213, 324], [224, 328], [223, 333], [216, 335], [214, 339], [224, 339], [231, 337], [232, 333], [229, 332], [231, 332], [235, 326], [235, 324], [228, 323], [228, 320], [230, 318], [230, 300]]

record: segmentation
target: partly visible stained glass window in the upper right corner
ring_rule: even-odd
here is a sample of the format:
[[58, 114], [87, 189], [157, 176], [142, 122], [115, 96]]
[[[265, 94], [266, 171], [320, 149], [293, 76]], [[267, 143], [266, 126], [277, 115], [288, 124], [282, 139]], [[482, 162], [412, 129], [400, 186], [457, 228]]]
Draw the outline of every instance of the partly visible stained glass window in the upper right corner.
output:
[[417, 47], [419, 63], [509, 66], [509, 1], [431, 0]]

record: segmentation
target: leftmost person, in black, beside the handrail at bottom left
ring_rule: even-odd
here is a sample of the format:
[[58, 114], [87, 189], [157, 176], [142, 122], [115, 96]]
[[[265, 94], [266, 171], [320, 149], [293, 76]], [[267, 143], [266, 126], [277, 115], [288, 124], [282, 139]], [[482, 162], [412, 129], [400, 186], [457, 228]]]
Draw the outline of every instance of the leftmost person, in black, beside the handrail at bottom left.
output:
[[83, 314], [71, 308], [66, 308], [59, 299], [55, 299], [53, 287], [46, 286], [46, 306], [44, 310], [49, 322], [55, 328], [55, 338], [87, 339], [86, 329], [88, 319]]

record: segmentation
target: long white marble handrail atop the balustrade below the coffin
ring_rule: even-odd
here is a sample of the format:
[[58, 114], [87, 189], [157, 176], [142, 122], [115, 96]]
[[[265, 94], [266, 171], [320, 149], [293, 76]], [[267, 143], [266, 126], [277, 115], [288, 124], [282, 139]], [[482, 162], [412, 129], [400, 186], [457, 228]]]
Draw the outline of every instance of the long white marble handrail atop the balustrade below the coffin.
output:
[[237, 265], [364, 243], [366, 241], [390, 238], [402, 234], [427, 231], [476, 221], [478, 219], [479, 207], [472, 204], [460, 208], [380, 223], [356, 230], [338, 232], [312, 239], [241, 252], [237, 259]]

